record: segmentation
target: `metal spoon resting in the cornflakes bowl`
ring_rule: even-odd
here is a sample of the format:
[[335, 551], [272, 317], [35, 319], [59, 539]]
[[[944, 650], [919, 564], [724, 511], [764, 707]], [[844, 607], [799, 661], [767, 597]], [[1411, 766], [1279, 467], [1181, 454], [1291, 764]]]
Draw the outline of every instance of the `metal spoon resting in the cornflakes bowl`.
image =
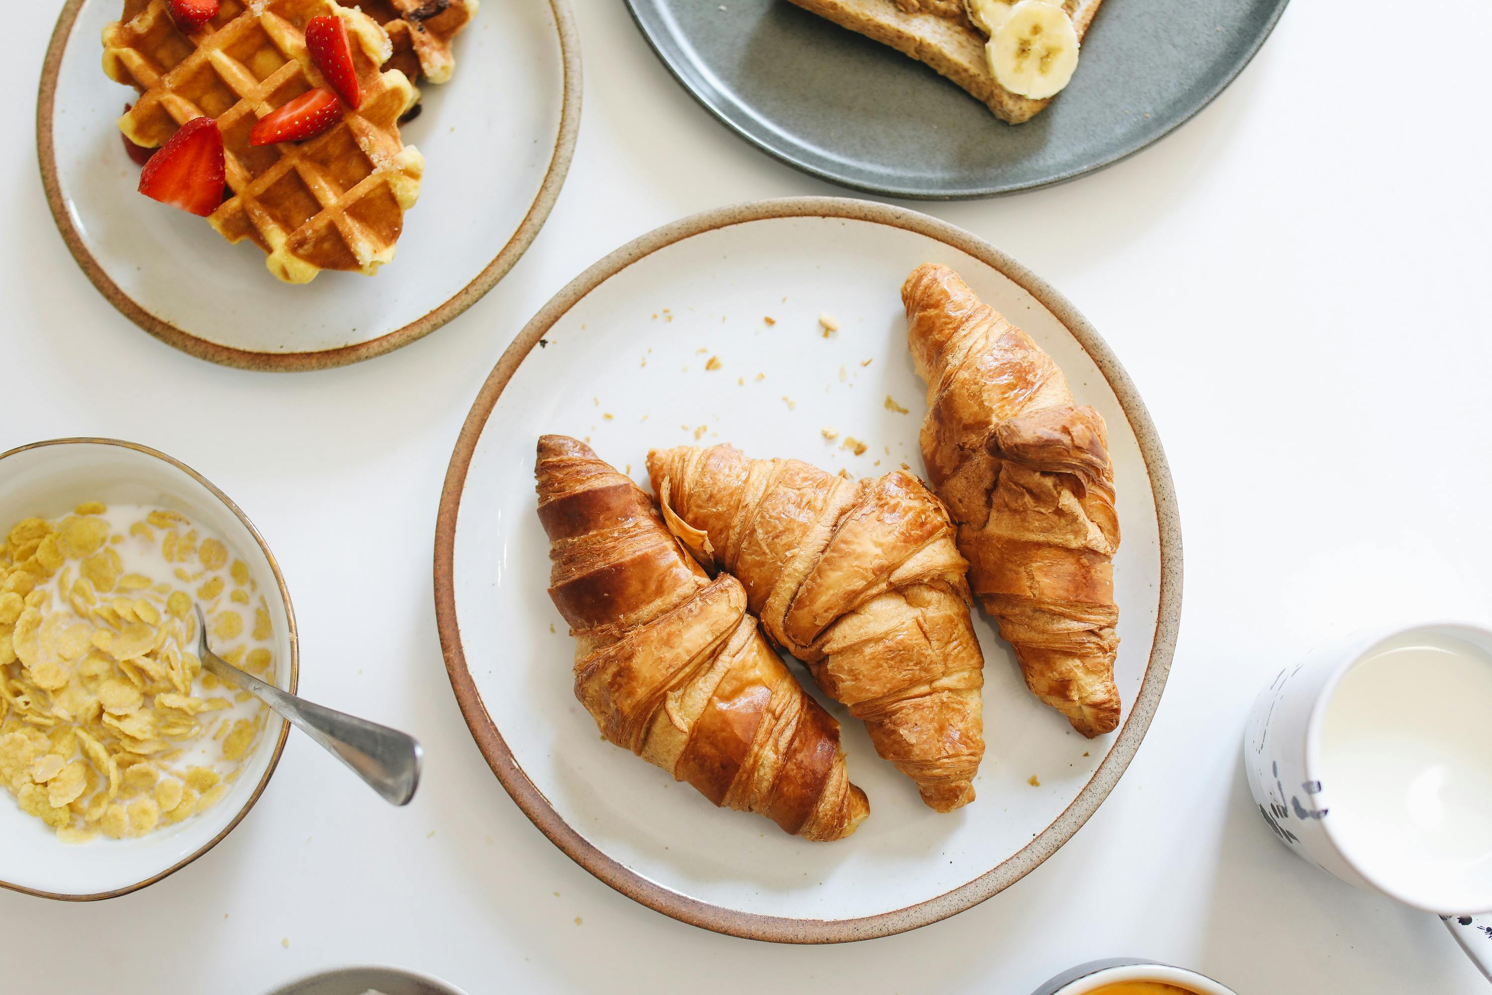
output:
[[409, 804], [419, 785], [419, 764], [424, 756], [415, 737], [297, 698], [243, 673], [207, 649], [207, 619], [203, 618], [201, 606], [192, 607], [197, 609], [197, 655], [201, 656], [203, 667], [289, 719], [295, 728], [351, 767], [373, 791], [383, 795], [385, 801], [395, 806]]

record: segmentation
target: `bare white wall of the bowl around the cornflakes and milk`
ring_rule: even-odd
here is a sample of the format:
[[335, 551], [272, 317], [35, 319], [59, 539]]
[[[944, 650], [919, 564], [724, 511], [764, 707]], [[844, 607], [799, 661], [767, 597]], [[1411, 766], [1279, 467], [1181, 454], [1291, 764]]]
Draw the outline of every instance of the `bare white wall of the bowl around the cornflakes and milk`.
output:
[[[81, 501], [140, 503], [182, 512], [228, 542], [266, 592], [275, 625], [276, 685], [295, 691], [295, 615], [279, 567], [254, 525], [221, 491], [164, 453], [109, 439], [60, 439], [0, 453], [0, 522], [64, 515]], [[276, 594], [279, 597], [276, 597]], [[154, 885], [207, 850], [248, 814], [275, 773], [289, 722], [266, 726], [233, 788], [212, 809], [149, 835], [67, 844], [0, 792], [0, 888], [87, 901]]]

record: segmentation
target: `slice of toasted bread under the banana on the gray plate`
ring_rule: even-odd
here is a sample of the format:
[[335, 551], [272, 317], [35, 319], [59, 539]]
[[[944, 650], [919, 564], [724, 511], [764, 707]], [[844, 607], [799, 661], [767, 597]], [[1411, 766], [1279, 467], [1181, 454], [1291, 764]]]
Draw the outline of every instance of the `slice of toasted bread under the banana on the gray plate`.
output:
[[[840, 27], [889, 45], [904, 55], [927, 63], [967, 90], [997, 118], [1022, 124], [1047, 103], [1013, 94], [998, 82], [985, 61], [985, 36], [968, 22], [961, 0], [792, 0], [804, 10], [828, 18]], [[1065, 0], [1062, 7], [1073, 18], [1077, 40], [1103, 0]]]

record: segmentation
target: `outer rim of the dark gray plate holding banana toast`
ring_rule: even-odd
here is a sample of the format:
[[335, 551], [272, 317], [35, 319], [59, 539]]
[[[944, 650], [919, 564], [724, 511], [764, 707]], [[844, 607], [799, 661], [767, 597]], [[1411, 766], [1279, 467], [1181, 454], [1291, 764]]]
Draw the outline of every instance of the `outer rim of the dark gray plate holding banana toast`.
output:
[[[797, 158], [791, 152], [779, 149], [770, 142], [762, 140], [758, 136], [752, 134], [749, 128], [736, 121], [725, 107], [722, 107], [718, 101], [715, 101], [715, 98], [709, 92], [707, 84], [703, 79], [700, 79], [698, 73], [692, 72], [694, 66], [692, 61], [682, 51], [679, 51], [679, 46], [673, 43], [673, 39], [667, 37], [661, 31], [653, 30], [653, 25], [643, 13], [643, 7], [646, 7], [651, 12], [656, 6], [656, 3], [658, 0], [627, 0], [627, 9], [631, 12], [633, 21], [637, 22], [637, 30], [642, 31], [642, 36], [645, 39], [648, 39], [648, 45], [658, 57], [658, 61], [668, 67], [668, 72], [673, 73], [673, 78], [676, 81], [679, 81], [679, 85], [683, 87], [689, 92], [689, 95], [700, 103], [700, 106], [709, 110], [716, 121], [724, 124], [727, 128], [734, 131], [737, 136], [740, 136], [750, 145], [755, 145], [767, 155], [782, 163], [786, 163], [794, 169], [803, 170], [810, 176], [818, 176], [819, 179], [828, 181], [831, 183], [847, 186], [850, 189], [858, 189], [867, 194], [877, 194], [880, 197], [906, 197], [909, 200], [974, 200], [980, 197], [998, 197], [1001, 194], [1015, 194], [1022, 189], [1037, 189], [1040, 186], [1050, 186], [1053, 183], [1065, 183], [1070, 179], [1077, 179], [1079, 176], [1095, 173], [1104, 167], [1113, 166], [1120, 160], [1129, 158], [1140, 149], [1144, 149], [1159, 142], [1167, 134], [1170, 134], [1176, 128], [1182, 127], [1183, 124], [1195, 118], [1198, 113], [1201, 113], [1203, 107], [1216, 100], [1217, 94], [1226, 90], [1232, 84], [1232, 81], [1238, 78], [1238, 73], [1241, 73], [1243, 69], [1250, 61], [1253, 61], [1253, 57], [1259, 52], [1261, 48], [1264, 48], [1264, 43], [1274, 31], [1274, 25], [1279, 24], [1280, 16], [1285, 13], [1285, 7], [1289, 6], [1289, 0], [1276, 0], [1274, 10], [1265, 19], [1264, 30], [1259, 31], [1259, 36], [1253, 40], [1249, 49], [1243, 52], [1243, 55], [1237, 60], [1237, 63], [1228, 67], [1228, 70], [1222, 75], [1222, 79], [1217, 81], [1217, 85], [1212, 88], [1201, 100], [1198, 100], [1195, 106], [1186, 109], [1183, 113], [1177, 115], [1173, 121], [1161, 127], [1159, 131], [1155, 131], [1153, 134], [1144, 136], [1143, 139], [1123, 145], [1116, 152], [1101, 157], [1089, 163], [1088, 166], [1080, 166], [1077, 169], [1070, 169], [1067, 172], [1053, 173], [1044, 179], [1031, 181], [1026, 183], [989, 183], [985, 186], [967, 186], [950, 191], [943, 191], [943, 189], [931, 191], [913, 186], [892, 186], [888, 183], [865, 183], [861, 181], [855, 181], [847, 176], [839, 175], [833, 170], [813, 166], [812, 163]], [[906, 58], [906, 55], [901, 55], [900, 52], [897, 52], [895, 55], [897, 58]], [[689, 69], [686, 70], [685, 67]], [[949, 84], [949, 87], [956, 87], [956, 85]], [[1019, 127], [1019, 125], [1010, 125], [1010, 127]]]

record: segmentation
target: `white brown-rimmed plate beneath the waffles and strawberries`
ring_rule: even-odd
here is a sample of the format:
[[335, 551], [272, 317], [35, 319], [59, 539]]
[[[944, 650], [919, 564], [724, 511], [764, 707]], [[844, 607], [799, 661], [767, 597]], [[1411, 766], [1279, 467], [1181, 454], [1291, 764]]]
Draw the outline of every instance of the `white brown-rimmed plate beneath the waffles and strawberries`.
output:
[[115, 119], [136, 91], [100, 69], [121, 0], [69, 0], [42, 70], [37, 148], [58, 230], [127, 318], [206, 360], [261, 370], [355, 362], [470, 307], [528, 248], [564, 182], [580, 113], [567, 0], [483, 4], [455, 42], [457, 69], [421, 85], [403, 127], [425, 155], [398, 254], [376, 276], [276, 280], [264, 254], [136, 192]]

